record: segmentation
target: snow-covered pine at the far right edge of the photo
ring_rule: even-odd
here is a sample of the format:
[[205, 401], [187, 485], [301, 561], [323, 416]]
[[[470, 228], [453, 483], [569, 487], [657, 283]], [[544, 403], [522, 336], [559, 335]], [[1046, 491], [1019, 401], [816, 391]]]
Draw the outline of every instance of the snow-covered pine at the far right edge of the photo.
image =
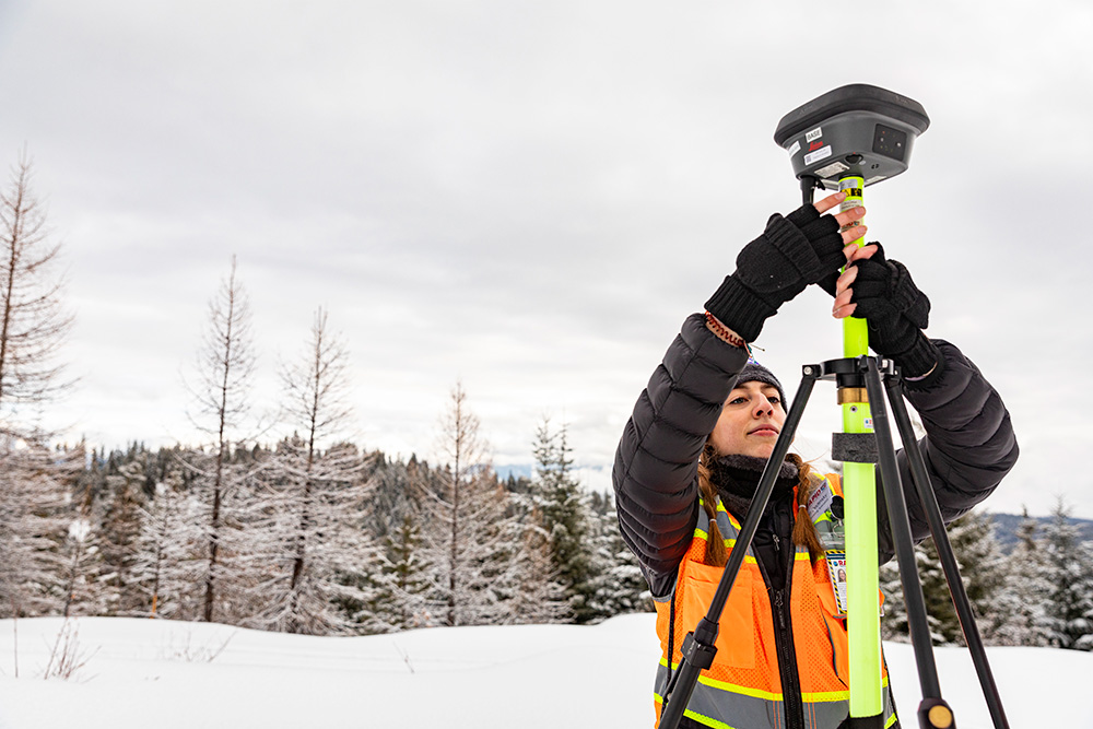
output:
[[1061, 498], [1044, 529], [1044, 552], [1051, 584], [1050, 645], [1093, 650], [1093, 551], [1079, 540], [1070, 508]]

